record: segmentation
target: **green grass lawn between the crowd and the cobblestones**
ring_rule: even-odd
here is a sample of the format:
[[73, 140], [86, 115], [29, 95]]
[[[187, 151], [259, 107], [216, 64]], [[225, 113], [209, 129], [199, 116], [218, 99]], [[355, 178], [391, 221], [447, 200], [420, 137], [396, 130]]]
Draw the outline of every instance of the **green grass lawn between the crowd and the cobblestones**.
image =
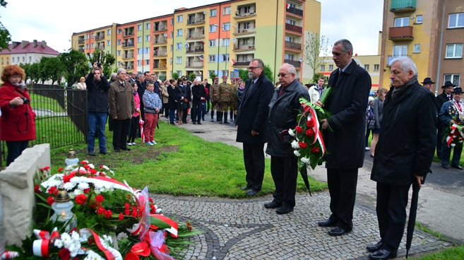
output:
[[[213, 196], [225, 198], [245, 198], [239, 187], [246, 185], [242, 149], [224, 143], [211, 143], [192, 135], [185, 129], [160, 122], [155, 132], [155, 146], [141, 146], [138, 138], [131, 151], [112, 149], [112, 132], [106, 131], [107, 150], [111, 155], [87, 154], [84, 143], [71, 146], [79, 160], [89, 160], [94, 165], [107, 165], [116, 173], [115, 178], [126, 181], [138, 189], [148, 186], [150, 193], [186, 196]], [[68, 147], [52, 150], [52, 169], [64, 165]], [[311, 191], [327, 188], [326, 183], [316, 182], [309, 177]], [[263, 187], [259, 195], [272, 194], [273, 179], [270, 175], [270, 160], [266, 159]], [[307, 193], [301, 177], [297, 191]]]

